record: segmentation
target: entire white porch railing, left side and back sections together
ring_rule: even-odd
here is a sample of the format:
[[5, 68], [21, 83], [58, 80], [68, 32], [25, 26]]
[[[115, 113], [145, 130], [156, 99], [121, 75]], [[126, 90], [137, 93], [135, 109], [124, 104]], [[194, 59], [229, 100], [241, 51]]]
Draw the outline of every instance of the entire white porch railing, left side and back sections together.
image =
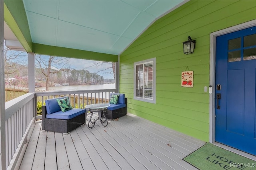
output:
[[28, 133], [35, 123], [37, 116], [37, 102], [60, 96], [69, 96], [74, 107], [85, 107], [88, 104], [108, 103], [110, 93], [116, 89], [106, 90], [77, 90], [36, 92], [24, 94], [6, 102], [6, 167], [13, 170], [16, 166], [22, 148], [27, 141]]

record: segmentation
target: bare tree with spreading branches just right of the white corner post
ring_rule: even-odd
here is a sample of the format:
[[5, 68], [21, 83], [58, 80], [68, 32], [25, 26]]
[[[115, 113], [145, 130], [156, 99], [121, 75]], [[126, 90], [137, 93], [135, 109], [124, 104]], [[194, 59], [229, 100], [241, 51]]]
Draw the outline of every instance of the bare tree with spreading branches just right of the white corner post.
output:
[[36, 66], [39, 66], [46, 78], [45, 90], [49, 91], [50, 77], [62, 71], [70, 70], [70, 58], [36, 55]]

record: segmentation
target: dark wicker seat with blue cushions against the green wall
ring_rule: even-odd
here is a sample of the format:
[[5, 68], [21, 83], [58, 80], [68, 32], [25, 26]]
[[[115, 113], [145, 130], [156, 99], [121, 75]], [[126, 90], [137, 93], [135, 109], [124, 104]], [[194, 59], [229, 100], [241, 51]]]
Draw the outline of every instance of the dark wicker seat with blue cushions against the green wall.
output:
[[106, 117], [108, 119], [116, 119], [118, 117], [127, 115], [127, 98], [124, 94], [120, 93], [111, 93], [110, 98], [114, 94], [119, 94], [119, 98], [117, 104], [110, 104], [106, 110]]

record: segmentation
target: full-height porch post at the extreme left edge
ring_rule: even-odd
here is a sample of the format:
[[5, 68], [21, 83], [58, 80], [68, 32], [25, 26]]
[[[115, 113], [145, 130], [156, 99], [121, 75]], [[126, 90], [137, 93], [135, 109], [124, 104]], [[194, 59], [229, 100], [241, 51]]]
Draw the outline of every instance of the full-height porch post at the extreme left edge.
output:
[[6, 170], [5, 139], [5, 83], [4, 83], [4, 1], [0, 0], [0, 167]]

